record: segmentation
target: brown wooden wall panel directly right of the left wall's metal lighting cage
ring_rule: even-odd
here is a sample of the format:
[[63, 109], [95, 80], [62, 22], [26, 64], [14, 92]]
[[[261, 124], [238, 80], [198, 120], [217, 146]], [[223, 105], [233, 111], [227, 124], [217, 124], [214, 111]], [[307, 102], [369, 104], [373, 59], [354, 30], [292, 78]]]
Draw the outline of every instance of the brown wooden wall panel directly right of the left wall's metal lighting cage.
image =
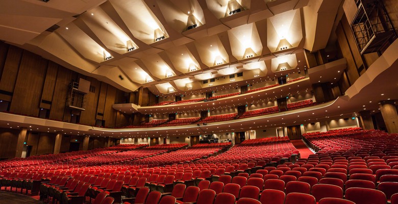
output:
[[94, 78], [87, 78], [90, 81], [90, 86], [95, 87], [95, 93], [89, 92], [86, 99], [86, 110], [80, 114], [80, 123], [82, 124], [95, 124], [95, 117], [97, 115], [97, 103], [99, 92], [101, 90], [101, 82]]

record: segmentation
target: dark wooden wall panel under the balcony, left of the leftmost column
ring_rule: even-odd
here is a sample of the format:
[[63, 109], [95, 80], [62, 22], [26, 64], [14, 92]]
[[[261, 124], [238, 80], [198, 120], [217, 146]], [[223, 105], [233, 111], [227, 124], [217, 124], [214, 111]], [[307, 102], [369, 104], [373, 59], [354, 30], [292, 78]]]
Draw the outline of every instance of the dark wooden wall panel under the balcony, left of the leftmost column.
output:
[[0, 128], [0, 158], [14, 158], [19, 130]]

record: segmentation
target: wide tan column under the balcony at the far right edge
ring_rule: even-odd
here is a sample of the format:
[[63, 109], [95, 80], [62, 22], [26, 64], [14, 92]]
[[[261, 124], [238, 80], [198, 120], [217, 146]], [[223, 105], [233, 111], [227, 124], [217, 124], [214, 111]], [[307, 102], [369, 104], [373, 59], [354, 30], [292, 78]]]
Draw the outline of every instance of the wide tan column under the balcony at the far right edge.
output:
[[384, 119], [384, 123], [386, 123], [388, 133], [398, 133], [398, 115], [396, 114], [394, 101], [380, 101], [379, 107]]

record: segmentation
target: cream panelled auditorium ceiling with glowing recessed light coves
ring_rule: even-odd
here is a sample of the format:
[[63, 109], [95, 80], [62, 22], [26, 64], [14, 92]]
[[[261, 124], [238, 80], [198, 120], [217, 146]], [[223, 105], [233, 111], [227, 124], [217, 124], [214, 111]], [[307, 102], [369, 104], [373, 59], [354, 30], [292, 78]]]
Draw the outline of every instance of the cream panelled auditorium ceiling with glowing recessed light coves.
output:
[[[0, 40], [124, 91], [143, 86], [168, 94], [171, 85], [179, 94], [241, 71], [251, 76], [244, 80], [253, 70], [273, 76], [280, 61], [292, 68], [287, 73], [304, 69], [303, 48], [326, 46], [341, 7], [326, 0], [236, 2], [244, 10], [229, 15], [228, 0], [4, 0]], [[193, 21], [198, 27], [186, 30]], [[54, 24], [60, 28], [46, 31]], [[165, 39], [155, 41], [159, 35]], [[282, 39], [291, 47], [277, 50]], [[130, 43], [135, 49], [127, 52]], [[104, 61], [104, 53], [113, 58]]]

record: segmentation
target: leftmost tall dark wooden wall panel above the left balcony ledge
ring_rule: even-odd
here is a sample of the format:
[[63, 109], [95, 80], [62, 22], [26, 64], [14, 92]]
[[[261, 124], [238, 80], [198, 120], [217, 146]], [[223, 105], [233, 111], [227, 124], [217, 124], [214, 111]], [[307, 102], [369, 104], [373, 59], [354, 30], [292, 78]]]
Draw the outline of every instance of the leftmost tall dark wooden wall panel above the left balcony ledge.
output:
[[15, 46], [9, 47], [2, 78], [0, 80], [0, 90], [14, 92], [22, 51], [22, 49]]

